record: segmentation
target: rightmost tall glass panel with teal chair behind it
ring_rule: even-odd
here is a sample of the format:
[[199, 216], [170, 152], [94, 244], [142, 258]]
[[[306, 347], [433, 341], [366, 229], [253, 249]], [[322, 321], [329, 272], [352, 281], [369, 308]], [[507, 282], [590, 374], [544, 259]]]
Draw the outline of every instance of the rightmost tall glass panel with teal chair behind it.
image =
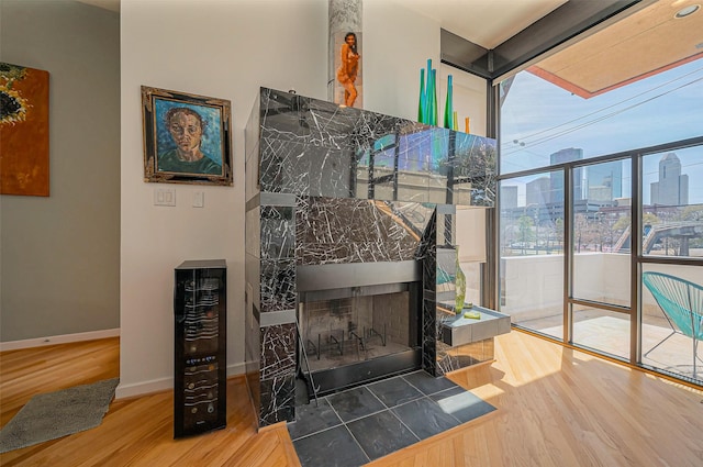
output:
[[[641, 157], [641, 363], [703, 381], [703, 145]], [[660, 288], [658, 288], [658, 286]], [[694, 362], [695, 360], [695, 362]]]

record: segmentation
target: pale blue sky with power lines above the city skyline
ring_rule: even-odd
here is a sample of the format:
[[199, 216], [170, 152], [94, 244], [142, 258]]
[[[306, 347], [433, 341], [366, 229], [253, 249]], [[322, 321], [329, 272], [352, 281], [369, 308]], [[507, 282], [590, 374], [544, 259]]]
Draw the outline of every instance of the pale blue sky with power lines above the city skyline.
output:
[[[581, 148], [588, 159], [702, 135], [701, 59], [591, 99], [522, 71], [501, 109], [501, 173], [546, 167], [551, 154], [571, 147]], [[673, 153], [689, 176], [689, 202], [703, 203], [703, 147]], [[650, 201], [650, 185], [658, 181], [662, 156], [644, 159], [645, 203]], [[623, 197], [632, 196], [629, 174], [627, 163], [622, 168]], [[534, 178], [514, 184], [523, 185], [520, 201], [525, 201], [524, 184]]]

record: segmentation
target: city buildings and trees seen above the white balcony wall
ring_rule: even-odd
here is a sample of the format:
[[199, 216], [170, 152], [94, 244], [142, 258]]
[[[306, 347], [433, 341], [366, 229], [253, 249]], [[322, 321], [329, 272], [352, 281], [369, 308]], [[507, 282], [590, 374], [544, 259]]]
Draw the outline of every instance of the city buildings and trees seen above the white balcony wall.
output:
[[[554, 153], [551, 160], [560, 164], [582, 160], [582, 149], [568, 148]], [[650, 196], [643, 205], [643, 252], [703, 256], [703, 205], [689, 203], [690, 177], [682, 173], [677, 153], [647, 156], [644, 163], [649, 167], [656, 163], [657, 170], [644, 177]], [[573, 224], [578, 253], [629, 252], [632, 198], [624, 196], [623, 181], [629, 182], [631, 170], [629, 160], [573, 170]], [[627, 177], [624, 178], [624, 174]], [[518, 184], [513, 180], [514, 185], [501, 185], [501, 246], [504, 255], [561, 251], [565, 215], [562, 178], [560, 171], [551, 171], [520, 178]]]

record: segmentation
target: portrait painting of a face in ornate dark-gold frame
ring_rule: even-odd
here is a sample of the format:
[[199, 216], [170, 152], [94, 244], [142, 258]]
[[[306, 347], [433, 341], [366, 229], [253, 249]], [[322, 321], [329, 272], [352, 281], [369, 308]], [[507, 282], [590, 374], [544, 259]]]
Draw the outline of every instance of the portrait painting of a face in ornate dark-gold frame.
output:
[[232, 185], [228, 100], [142, 86], [144, 181]]

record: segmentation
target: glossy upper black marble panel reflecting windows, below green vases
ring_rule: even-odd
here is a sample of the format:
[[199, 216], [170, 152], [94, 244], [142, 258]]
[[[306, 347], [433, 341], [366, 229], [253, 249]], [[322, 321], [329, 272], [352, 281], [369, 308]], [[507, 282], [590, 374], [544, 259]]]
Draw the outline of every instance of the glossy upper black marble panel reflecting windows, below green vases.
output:
[[263, 191], [492, 205], [495, 142], [261, 89]]

